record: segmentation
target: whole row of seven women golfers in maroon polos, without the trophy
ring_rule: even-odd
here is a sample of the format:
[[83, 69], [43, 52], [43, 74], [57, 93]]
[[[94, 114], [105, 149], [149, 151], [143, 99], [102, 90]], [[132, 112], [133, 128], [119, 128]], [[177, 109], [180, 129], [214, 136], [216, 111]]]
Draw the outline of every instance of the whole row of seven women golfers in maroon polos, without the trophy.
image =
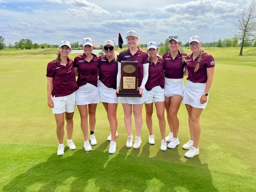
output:
[[[97, 57], [92, 53], [94, 48], [91, 38], [82, 40], [84, 53], [68, 57], [71, 52], [69, 41], [59, 43], [58, 56], [47, 65], [47, 104], [52, 108], [56, 119], [56, 134], [59, 141], [57, 155], [64, 154], [64, 120], [66, 119], [67, 146], [76, 149], [72, 141], [73, 115], [75, 105], [81, 117], [81, 129], [84, 135], [84, 149], [91, 151], [96, 145], [94, 128], [96, 124], [96, 107], [102, 102], [110, 124], [109, 153], [116, 152], [117, 105], [122, 103], [124, 123], [128, 134], [126, 147], [137, 149], [142, 140], [142, 107], [145, 104], [146, 125], [149, 130], [148, 142], [155, 144], [152, 128], [153, 102], [155, 103], [158, 124], [161, 133], [162, 151], [175, 148], [180, 144], [178, 139], [179, 120], [177, 117], [181, 102], [186, 106], [190, 139], [182, 148], [189, 149], [185, 157], [199, 154], [198, 143], [201, 126], [200, 116], [207, 105], [209, 90], [213, 81], [215, 61], [212, 55], [201, 49], [198, 36], [190, 37], [191, 54], [180, 52], [180, 38], [169, 36], [169, 49], [162, 58], [157, 54], [157, 43], [147, 44], [147, 52], [140, 50], [137, 32], [126, 33], [128, 49], [117, 55], [114, 42], [103, 43], [104, 55]], [[120, 90], [121, 61], [137, 61], [138, 90], [141, 97], [117, 97]], [[76, 76], [78, 79], [76, 81]], [[188, 76], [186, 85], [183, 76]], [[170, 133], [165, 135], [165, 110]], [[132, 134], [132, 113], [134, 115], [136, 136]], [[88, 115], [90, 142], [88, 140]], [[160, 141], [159, 141], [160, 142]], [[168, 145], [166, 142], [169, 142]]]

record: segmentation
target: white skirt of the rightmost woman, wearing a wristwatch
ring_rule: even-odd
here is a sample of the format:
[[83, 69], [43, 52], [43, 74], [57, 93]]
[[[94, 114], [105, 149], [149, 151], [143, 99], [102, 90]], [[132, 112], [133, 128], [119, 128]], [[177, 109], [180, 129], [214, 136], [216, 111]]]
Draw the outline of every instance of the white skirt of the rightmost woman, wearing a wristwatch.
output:
[[209, 96], [207, 96], [207, 102], [205, 104], [200, 104], [200, 99], [204, 93], [205, 86], [206, 83], [194, 83], [187, 80], [184, 89], [183, 103], [189, 104], [195, 108], [206, 108]]

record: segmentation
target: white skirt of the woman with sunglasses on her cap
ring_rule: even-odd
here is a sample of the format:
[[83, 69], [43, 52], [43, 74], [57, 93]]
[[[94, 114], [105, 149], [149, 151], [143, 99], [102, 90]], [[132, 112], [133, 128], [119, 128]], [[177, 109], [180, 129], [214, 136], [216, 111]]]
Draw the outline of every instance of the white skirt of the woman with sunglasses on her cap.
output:
[[184, 83], [183, 79], [165, 78], [165, 96], [172, 97], [175, 94], [183, 97]]

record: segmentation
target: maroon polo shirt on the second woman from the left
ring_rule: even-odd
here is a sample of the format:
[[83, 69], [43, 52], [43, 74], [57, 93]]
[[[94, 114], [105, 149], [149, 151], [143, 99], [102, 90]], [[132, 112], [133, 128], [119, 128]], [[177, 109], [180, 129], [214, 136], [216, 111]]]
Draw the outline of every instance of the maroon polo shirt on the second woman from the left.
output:
[[93, 58], [90, 62], [85, 61], [86, 55], [78, 55], [74, 59], [74, 67], [78, 70], [77, 84], [79, 87], [90, 83], [97, 87], [99, 58], [91, 53]]

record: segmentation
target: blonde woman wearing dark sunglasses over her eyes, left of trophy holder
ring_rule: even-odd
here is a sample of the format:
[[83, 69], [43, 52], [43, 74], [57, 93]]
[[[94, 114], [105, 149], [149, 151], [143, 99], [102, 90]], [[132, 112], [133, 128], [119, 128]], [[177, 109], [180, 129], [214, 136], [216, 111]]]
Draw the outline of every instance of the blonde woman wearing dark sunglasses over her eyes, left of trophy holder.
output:
[[99, 56], [99, 96], [100, 100], [107, 112], [108, 122], [110, 124], [110, 140], [109, 153], [116, 152], [116, 137], [117, 137], [117, 117], [116, 110], [118, 97], [115, 96], [116, 91], [116, 76], [117, 76], [117, 55], [114, 42], [111, 40], [104, 41], [103, 49], [105, 55]]

